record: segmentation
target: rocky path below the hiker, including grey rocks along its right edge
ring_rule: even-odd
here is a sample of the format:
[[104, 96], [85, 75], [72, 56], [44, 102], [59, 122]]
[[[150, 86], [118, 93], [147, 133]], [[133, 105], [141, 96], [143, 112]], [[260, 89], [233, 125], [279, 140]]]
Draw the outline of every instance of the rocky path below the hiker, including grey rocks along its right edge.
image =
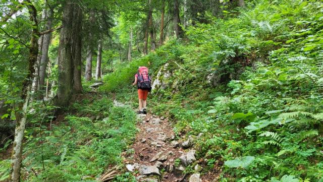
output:
[[[124, 156], [127, 170], [138, 181], [202, 181], [199, 173], [184, 174], [186, 166], [196, 163], [195, 150], [189, 149], [192, 139], [177, 142], [166, 118], [150, 114], [138, 117], [140, 131], [132, 146], [134, 152]], [[198, 171], [198, 164], [194, 168]]]

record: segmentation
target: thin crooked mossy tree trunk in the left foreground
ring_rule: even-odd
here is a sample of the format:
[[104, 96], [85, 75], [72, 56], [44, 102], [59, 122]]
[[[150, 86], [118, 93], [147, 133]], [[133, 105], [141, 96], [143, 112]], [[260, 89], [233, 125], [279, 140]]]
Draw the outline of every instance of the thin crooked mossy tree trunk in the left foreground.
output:
[[32, 3], [27, 0], [27, 8], [30, 14], [30, 21], [32, 24], [31, 40], [29, 46], [29, 57], [28, 57], [28, 74], [22, 82], [21, 99], [24, 100], [23, 104], [19, 104], [19, 109], [22, 109], [21, 113], [16, 112], [16, 130], [14, 149], [12, 154], [12, 171], [10, 181], [20, 181], [20, 167], [22, 161], [22, 144], [25, 132], [26, 118], [27, 118], [27, 106], [29, 102], [29, 92], [31, 89], [32, 79], [35, 72], [35, 63], [38, 55], [38, 22], [37, 22], [37, 11]]

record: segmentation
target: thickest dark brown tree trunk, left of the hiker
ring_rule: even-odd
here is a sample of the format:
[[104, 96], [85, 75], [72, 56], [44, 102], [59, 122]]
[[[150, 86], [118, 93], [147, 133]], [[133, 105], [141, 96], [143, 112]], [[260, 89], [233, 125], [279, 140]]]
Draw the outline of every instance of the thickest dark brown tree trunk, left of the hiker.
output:
[[73, 9], [73, 1], [68, 0], [63, 10], [63, 28], [60, 33], [58, 91], [55, 101], [57, 106], [68, 105], [72, 97], [73, 59], [71, 49], [73, 41]]

